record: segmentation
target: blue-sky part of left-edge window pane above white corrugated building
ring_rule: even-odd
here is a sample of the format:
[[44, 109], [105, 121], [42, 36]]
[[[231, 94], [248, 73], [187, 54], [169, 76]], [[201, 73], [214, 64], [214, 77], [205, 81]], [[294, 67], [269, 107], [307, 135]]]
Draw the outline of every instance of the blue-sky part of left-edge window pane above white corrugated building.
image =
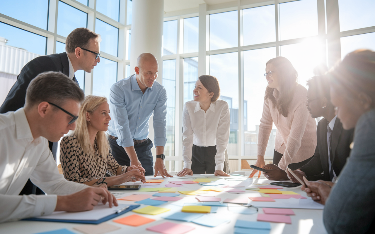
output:
[[47, 38], [0, 22], [0, 37], [7, 39], [8, 46], [25, 49], [31, 53], [45, 55]]

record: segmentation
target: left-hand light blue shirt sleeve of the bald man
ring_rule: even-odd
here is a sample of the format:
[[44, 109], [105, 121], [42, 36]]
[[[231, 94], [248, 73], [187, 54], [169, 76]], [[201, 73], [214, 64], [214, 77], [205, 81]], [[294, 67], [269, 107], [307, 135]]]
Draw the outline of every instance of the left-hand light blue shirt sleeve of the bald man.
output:
[[129, 147], [134, 146], [134, 142], [129, 128], [129, 119], [124, 100], [124, 92], [117, 84], [112, 85], [110, 90], [110, 109], [118, 137], [116, 142], [119, 146]]

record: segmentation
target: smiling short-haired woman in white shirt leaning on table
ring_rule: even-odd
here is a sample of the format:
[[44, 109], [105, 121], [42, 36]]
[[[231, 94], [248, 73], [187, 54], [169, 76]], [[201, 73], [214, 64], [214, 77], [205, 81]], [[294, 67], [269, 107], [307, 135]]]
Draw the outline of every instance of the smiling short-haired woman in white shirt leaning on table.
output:
[[219, 82], [210, 75], [199, 76], [194, 100], [187, 101], [182, 114], [182, 157], [184, 168], [177, 176], [215, 174], [224, 170], [225, 149], [229, 140], [230, 113], [220, 96]]

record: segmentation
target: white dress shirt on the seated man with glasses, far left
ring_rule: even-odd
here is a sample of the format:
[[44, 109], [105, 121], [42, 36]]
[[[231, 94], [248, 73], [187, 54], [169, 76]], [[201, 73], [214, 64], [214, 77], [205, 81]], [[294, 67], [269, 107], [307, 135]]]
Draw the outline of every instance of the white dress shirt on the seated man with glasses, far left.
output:
[[[57, 195], [88, 187], [58, 173], [47, 139], [33, 139], [23, 108], [0, 114], [0, 149], [0, 223], [50, 215]], [[18, 195], [28, 178], [48, 195]]]

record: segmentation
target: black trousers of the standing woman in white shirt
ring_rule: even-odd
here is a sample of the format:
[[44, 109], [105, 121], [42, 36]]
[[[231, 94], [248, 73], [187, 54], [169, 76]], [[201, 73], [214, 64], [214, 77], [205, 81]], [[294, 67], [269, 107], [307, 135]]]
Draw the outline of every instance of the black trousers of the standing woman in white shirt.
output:
[[194, 174], [213, 174], [215, 172], [215, 146], [193, 145], [191, 155], [191, 170]]

